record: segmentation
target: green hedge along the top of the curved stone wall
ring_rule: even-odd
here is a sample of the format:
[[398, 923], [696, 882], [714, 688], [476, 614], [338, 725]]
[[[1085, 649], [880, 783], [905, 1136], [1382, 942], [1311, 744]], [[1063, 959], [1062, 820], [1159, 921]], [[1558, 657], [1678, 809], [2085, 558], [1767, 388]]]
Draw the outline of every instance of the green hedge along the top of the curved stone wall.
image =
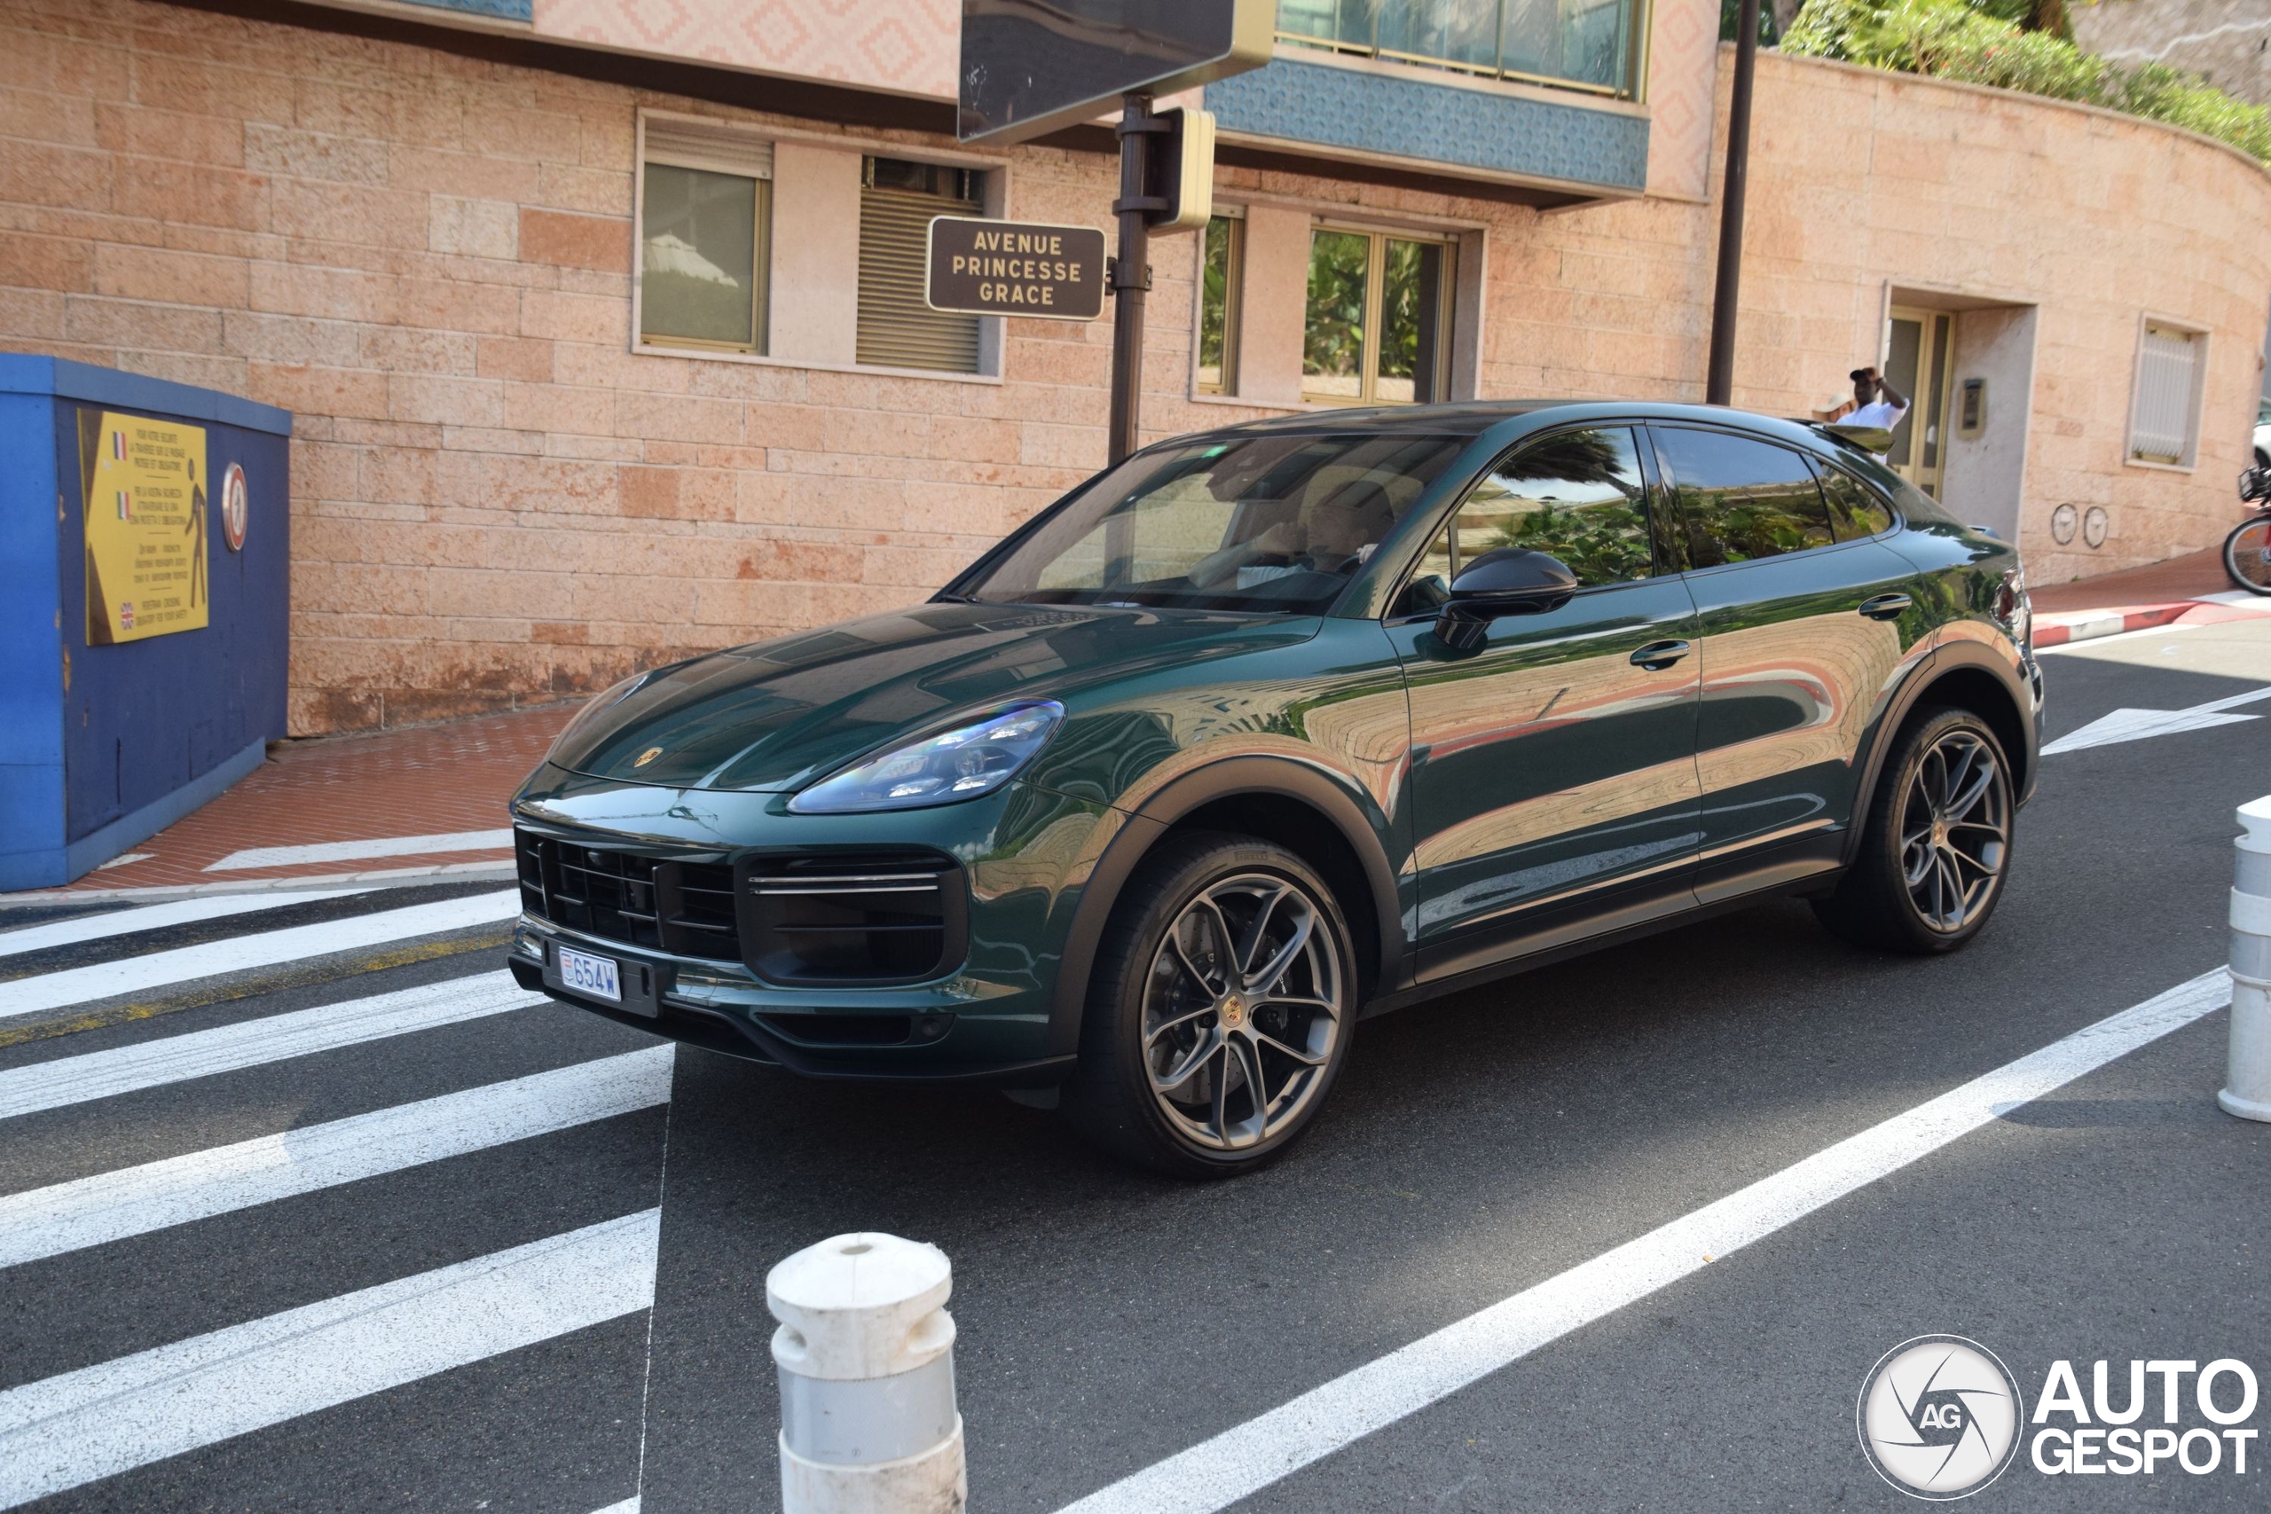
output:
[[[1783, 52], [1869, 68], [1992, 84], [2051, 100], [2101, 104], [2230, 143], [2271, 163], [2271, 111], [2246, 104], [2167, 64], [2112, 64], [2048, 30], [2003, 16], [2044, 9], [2017, 0], [1810, 0]], [[2062, 27], [2060, 11], [2060, 27]]]

